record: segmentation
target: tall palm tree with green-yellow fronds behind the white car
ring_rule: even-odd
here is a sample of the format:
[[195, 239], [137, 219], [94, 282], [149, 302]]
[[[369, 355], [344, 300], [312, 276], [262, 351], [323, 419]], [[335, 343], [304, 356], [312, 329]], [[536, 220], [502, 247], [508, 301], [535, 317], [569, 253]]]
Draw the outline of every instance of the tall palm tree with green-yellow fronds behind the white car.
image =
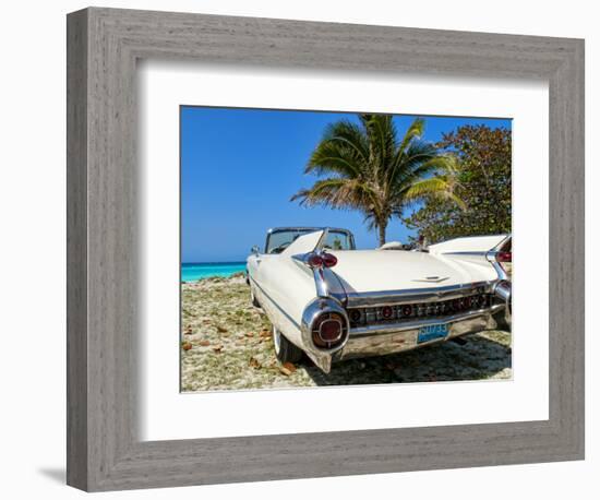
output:
[[389, 219], [411, 203], [441, 197], [461, 205], [454, 193], [455, 162], [420, 139], [423, 129], [417, 118], [398, 141], [391, 115], [359, 115], [359, 123], [329, 124], [304, 169], [326, 177], [291, 201], [362, 212], [369, 229], [377, 229], [380, 246]]

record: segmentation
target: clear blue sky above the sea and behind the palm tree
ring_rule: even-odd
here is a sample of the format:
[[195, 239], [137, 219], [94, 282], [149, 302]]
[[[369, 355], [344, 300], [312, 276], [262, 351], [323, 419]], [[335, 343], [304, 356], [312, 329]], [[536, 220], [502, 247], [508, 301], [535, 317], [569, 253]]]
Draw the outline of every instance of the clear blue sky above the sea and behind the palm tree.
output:
[[[324, 128], [353, 114], [182, 106], [181, 260], [243, 261], [264, 245], [275, 226], [335, 226], [350, 229], [358, 248], [374, 248], [358, 212], [300, 206], [290, 197], [310, 187], [303, 174]], [[395, 116], [401, 135], [416, 116]], [[435, 142], [463, 124], [511, 128], [511, 120], [423, 117], [423, 139]], [[410, 231], [397, 219], [387, 240], [405, 242]]]

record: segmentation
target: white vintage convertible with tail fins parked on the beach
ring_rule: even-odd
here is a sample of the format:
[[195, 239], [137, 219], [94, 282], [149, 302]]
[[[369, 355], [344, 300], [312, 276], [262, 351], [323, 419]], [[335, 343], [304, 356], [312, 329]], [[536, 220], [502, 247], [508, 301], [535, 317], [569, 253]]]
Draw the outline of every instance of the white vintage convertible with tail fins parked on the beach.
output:
[[511, 236], [458, 238], [427, 251], [356, 250], [338, 228], [268, 230], [248, 258], [254, 306], [281, 362], [305, 353], [324, 372], [483, 330], [509, 330]]

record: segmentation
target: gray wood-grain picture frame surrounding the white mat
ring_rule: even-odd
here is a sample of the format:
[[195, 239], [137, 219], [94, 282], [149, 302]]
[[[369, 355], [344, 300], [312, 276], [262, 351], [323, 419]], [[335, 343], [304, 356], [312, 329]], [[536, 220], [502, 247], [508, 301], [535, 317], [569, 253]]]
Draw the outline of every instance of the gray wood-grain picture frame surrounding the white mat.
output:
[[[95, 491], [584, 457], [583, 40], [91, 8], [68, 15], [67, 41], [69, 485]], [[135, 68], [147, 58], [548, 81], [550, 418], [140, 441]]]

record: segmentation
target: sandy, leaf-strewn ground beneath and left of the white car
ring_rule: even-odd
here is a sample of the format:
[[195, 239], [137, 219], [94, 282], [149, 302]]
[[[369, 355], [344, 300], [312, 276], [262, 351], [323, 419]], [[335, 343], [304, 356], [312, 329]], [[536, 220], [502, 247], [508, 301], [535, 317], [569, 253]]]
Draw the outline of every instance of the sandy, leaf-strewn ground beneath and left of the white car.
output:
[[461, 346], [447, 342], [351, 359], [334, 365], [329, 374], [309, 360], [283, 367], [275, 358], [268, 319], [250, 303], [241, 274], [182, 284], [181, 312], [183, 392], [512, 377], [507, 332], [468, 335]]

